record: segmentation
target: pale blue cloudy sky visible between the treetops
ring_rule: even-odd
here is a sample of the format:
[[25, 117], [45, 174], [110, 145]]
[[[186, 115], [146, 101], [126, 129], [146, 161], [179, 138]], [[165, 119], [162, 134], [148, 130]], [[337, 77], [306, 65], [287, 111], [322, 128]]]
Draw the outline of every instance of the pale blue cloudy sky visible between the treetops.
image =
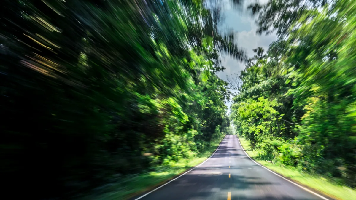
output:
[[[266, 3], [268, 0], [259, 0], [262, 4]], [[223, 20], [220, 22], [219, 31], [220, 32], [230, 32], [233, 31], [235, 33], [235, 42], [238, 46], [243, 48], [248, 57], [253, 57], [254, 52], [253, 49], [257, 47], [262, 47], [267, 50], [269, 44], [271, 44], [274, 40], [277, 39], [275, 34], [270, 35], [258, 35], [257, 25], [255, 23], [256, 17], [251, 16], [251, 14], [247, 10], [247, 6], [251, 4], [252, 0], [245, 0], [244, 4], [242, 4], [241, 8], [236, 8], [232, 6], [230, 0], [223, 0], [223, 10], [221, 14], [223, 15]], [[240, 71], [245, 68], [245, 64], [237, 61], [236, 59], [227, 56], [221, 55], [221, 65], [226, 69], [224, 72], [219, 72], [218, 76], [226, 80], [226, 75], [231, 74], [240, 74]], [[236, 92], [236, 91], [232, 91]], [[226, 105], [228, 107], [231, 106], [231, 102], [227, 102]], [[228, 111], [228, 113], [230, 110]]]

